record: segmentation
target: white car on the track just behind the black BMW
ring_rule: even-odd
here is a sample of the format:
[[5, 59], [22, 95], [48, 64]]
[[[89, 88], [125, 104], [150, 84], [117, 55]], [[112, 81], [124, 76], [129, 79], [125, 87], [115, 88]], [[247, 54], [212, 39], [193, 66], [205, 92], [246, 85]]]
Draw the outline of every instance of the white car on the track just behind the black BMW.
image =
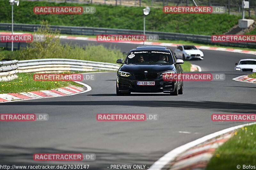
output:
[[179, 45], [175, 48], [176, 58], [190, 60], [192, 58], [204, 59], [204, 53], [193, 45]]

